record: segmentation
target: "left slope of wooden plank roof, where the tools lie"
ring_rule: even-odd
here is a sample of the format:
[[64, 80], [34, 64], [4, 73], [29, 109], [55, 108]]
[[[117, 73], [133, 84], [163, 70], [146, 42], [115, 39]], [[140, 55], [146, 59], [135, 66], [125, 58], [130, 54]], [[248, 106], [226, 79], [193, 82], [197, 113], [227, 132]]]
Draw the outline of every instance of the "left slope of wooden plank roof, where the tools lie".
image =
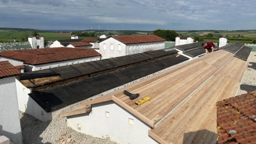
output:
[[227, 63], [234, 54], [227, 51], [217, 51], [209, 56], [203, 56], [195, 61], [189, 61], [184, 65], [158, 74], [156, 77], [134, 84], [127, 91], [140, 93], [138, 99], [150, 97], [151, 100], [137, 106], [135, 100], [130, 100], [124, 93], [116, 93], [114, 96], [131, 106], [141, 115], [153, 122], [161, 120], [177, 104], [193, 92], [200, 84], [206, 81], [214, 72]]

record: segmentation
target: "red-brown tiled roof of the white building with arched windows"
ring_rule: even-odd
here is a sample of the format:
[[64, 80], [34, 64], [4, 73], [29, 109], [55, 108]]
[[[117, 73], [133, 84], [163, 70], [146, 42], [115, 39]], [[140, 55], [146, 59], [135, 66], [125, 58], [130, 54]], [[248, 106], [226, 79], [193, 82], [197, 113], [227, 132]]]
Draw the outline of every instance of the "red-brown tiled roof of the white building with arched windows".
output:
[[116, 40], [123, 42], [124, 44], [138, 44], [146, 42], [163, 42], [166, 41], [156, 35], [122, 35], [122, 36], [112, 36]]

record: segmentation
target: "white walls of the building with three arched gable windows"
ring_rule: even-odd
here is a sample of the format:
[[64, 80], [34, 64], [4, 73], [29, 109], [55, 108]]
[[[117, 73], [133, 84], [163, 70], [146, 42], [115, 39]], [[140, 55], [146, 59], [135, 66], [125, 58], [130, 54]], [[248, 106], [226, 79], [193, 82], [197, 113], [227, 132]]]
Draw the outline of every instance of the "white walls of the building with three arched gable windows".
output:
[[[104, 47], [104, 44], [106, 44], [106, 47]], [[111, 44], [113, 45], [113, 49], [111, 49]], [[107, 40], [100, 42], [99, 46], [100, 46], [100, 54], [102, 54], [102, 59], [106, 59], [106, 58], [115, 58], [118, 56], [126, 56], [129, 54], [137, 54], [137, 53], [146, 52], [146, 51], [164, 49], [164, 42], [148, 42], [148, 43], [125, 45], [124, 43], [119, 42], [115, 38], [108, 38]], [[120, 47], [120, 49], [118, 49], [118, 47]]]

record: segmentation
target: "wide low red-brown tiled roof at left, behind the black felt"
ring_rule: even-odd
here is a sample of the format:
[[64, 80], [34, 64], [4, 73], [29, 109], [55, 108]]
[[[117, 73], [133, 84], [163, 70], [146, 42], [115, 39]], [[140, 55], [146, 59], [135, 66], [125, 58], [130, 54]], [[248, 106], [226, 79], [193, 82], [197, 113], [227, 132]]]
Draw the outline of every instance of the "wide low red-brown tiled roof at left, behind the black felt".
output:
[[45, 49], [23, 49], [15, 51], [0, 52], [0, 56], [24, 61], [28, 65], [40, 65], [56, 61], [74, 60], [100, 56], [101, 54], [93, 49], [74, 49], [68, 47], [55, 47]]

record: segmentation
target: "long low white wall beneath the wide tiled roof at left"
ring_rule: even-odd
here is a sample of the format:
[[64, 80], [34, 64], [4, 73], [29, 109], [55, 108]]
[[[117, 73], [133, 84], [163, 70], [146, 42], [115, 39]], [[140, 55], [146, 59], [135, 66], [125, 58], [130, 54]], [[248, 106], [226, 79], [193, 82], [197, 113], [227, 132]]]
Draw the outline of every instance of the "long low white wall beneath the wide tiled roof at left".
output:
[[25, 72], [31, 72], [35, 70], [44, 70], [47, 68], [62, 67], [65, 65], [74, 65], [77, 63], [86, 63], [88, 61], [97, 61], [97, 60], [100, 60], [100, 56], [93, 56], [89, 58], [79, 58], [79, 59], [67, 60], [67, 61], [58, 61], [54, 63], [45, 63], [42, 65], [24, 65], [24, 67], [25, 67]]

